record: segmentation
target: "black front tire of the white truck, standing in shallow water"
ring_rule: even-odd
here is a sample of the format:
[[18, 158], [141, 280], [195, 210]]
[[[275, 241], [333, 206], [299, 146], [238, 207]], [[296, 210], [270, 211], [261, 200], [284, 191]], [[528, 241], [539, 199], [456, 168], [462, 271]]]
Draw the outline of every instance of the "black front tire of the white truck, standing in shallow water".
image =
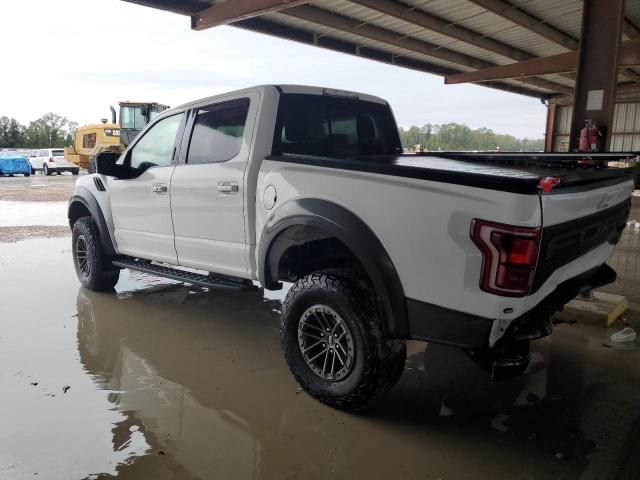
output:
[[[100, 235], [93, 218], [82, 217], [73, 224], [73, 266], [83, 287], [96, 292], [111, 290], [120, 277], [100, 244]], [[82, 255], [82, 250], [86, 253]], [[82, 265], [80, 256], [86, 258], [88, 268]]]

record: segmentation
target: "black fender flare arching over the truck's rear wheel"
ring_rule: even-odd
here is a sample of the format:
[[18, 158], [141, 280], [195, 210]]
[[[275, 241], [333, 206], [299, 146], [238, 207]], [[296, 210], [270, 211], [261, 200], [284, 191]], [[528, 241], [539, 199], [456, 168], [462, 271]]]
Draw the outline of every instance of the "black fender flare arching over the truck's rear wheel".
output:
[[[295, 238], [281, 235], [290, 227], [309, 226], [335, 237], [353, 252], [369, 276], [392, 338], [409, 338], [407, 305], [400, 277], [373, 231], [353, 212], [328, 200], [297, 198], [282, 204], [267, 221], [258, 246], [258, 278], [268, 289], [280, 287], [277, 265]], [[275, 268], [274, 268], [275, 267]]]

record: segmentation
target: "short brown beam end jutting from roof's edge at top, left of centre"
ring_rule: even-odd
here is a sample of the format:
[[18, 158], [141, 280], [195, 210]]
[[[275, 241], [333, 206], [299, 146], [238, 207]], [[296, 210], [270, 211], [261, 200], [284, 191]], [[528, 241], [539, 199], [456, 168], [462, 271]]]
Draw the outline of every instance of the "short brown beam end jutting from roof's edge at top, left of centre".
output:
[[239, 20], [257, 17], [263, 13], [309, 3], [311, 0], [227, 0], [216, 3], [201, 12], [191, 15], [191, 28], [204, 30], [226, 25]]

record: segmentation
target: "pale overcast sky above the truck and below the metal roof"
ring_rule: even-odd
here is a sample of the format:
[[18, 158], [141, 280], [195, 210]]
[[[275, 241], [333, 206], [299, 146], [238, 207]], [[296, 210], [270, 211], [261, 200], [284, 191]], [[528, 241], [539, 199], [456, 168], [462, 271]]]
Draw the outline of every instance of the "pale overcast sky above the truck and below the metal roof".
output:
[[466, 123], [540, 138], [539, 100], [117, 0], [0, 2], [0, 115], [53, 111], [95, 123], [118, 100], [178, 105], [264, 83], [357, 90], [386, 98], [402, 126]]

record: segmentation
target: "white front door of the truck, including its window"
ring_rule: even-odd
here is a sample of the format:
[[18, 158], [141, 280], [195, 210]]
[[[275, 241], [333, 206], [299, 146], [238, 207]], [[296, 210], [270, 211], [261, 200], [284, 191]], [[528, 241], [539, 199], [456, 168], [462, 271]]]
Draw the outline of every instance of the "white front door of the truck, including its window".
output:
[[[171, 221], [171, 175], [176, 137], [184, 131], [185, 114], [156, 122], [119, 160], [133, 178], [110, 179], [109, 192], [118, 252], [133, 257], [177, 263]], [[179, 143], [179, 142], [178, 142]]]

